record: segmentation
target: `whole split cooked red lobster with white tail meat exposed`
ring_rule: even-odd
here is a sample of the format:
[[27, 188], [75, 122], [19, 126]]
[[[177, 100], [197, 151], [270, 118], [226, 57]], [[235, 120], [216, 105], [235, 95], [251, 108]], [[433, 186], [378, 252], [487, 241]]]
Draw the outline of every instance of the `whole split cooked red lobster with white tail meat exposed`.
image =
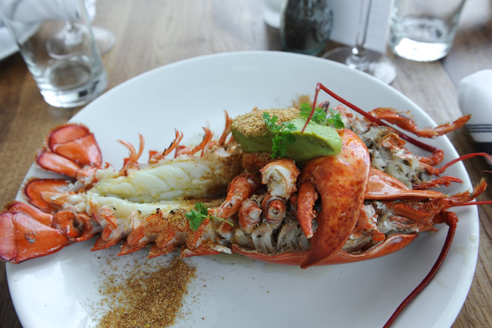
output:
[[[460, 182], [454, 177], [430, 177], [468, 156], [436, 168], [443, 159], [441, 150], [381, 119], [418, 136], [433, 137], [461, 127], [469, 117], [419, 130], [404, 113], [390, 108], [363, 112], [321, 84], [313, 110], [319, 90], [364, 119], [338, 106], [346, 122], [346, 128], [338, 130], [341, 152], [313, 158], [303, 167], [290, 159], [245, 153], [228, 139], [233, 120], [227, 113], [219, 139], [204, 128], [203, 141], [186, 147], [181, 144], [183, 134], [176, 131], [166, 150], [150, 152], [147, 164], [138, 163], [144, 148], [141, 135], [138, 150], [120, 140], [129, 151], [120, 170], [103, 163], [88, 128], [76, 124], [55, 128], [36, 164], [69, 179], [31, 179], [24, 187], [30, 204], [5, 205], [0, 212], [0, 258], [19, 263], [97, 235], [92, 250], [123, 241], [119, 255], [150, 245], [149, 257], [177, 248], [182, 257], [238, 252], [259, 261], [307, 268], [381, 257], [408, 245], [418, 232], [445, 223], [450, 232], [432, 269], [435, 272], [458, 221], [447, 209], [470, 204], [486, 183], [482, 180], [472, 191], [452, 196], [429, 190]], [[412, 154], [405, 142], [430, 151], [431, 156]], [[167, 159], [173, 151], [174, 158]], [[411, 172], [391, 174], [391, 169], [378, 164], [376, 152], [386, 153], [388, 161], [411, 166]]]

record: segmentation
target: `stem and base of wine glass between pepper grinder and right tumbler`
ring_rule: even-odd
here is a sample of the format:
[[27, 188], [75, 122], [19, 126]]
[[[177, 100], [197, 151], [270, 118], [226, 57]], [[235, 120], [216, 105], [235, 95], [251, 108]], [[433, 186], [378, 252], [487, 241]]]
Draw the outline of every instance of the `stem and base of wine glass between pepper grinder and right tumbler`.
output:
[[397, 69], [393, 61], [384, 54], [365, 48], [371, 3], [372, 0], [361, 0], [355, 45], [335, 48], [322, 57], [362, 70], [385, 83], [391, 84], [397, 76]]

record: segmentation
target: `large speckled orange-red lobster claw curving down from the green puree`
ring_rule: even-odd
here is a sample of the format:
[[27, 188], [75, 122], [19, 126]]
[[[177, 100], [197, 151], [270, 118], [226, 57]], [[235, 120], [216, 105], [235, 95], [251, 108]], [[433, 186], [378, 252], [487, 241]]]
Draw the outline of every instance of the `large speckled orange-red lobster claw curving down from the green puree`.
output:
[[[342, 248], [364, 203], [369, 181], [369, 151], [354, 132], [344, 130], [340, 136], [340, 153], [310, 160], [299, 175], [301, 185], [312, 183], [316, 187], [322, 204], [316, 218], [318, 228], [310, 238], [311, 247], [301, 263], [302, 268], [317, 265]], [[299, 213], [298, 220], [304, 220]]]

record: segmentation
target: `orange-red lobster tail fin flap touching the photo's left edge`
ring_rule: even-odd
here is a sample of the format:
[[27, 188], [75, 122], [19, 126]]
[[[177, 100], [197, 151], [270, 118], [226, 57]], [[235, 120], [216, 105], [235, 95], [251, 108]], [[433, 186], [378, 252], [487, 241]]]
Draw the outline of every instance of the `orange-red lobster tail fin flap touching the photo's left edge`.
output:
[[61, 230], [52, 228], [22, 212], [0, 215], [0, 259], [19, 263], [49, 255], [71, 244]]

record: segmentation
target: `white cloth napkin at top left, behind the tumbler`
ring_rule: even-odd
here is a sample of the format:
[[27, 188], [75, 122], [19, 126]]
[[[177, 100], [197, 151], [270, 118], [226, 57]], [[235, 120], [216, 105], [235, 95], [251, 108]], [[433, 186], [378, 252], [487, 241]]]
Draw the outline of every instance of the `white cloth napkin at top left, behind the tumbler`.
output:
[[[95, 16], [95, 0], [84, 0], [89, 18]], [[77, 0], [0, 0], [0, 10], [5, 17], [20, 23], [46, 20], [77, 20]]]

